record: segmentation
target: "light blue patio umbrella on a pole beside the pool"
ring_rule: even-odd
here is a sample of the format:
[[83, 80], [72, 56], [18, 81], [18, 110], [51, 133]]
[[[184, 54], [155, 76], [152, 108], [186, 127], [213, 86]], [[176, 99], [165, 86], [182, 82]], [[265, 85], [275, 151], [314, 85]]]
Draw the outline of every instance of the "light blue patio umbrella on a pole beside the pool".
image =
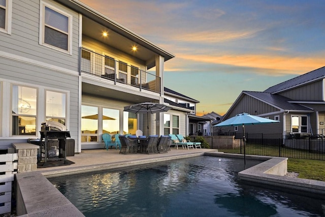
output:
[[226, 127], [226, 126], [243, 126], [243, 142], [244, 142], [244, 165], [246, 165], [246, 154], [245, 154], [245, 125], [261, 125], [264, 123], [278, 123], [277, 120], [272, 120], [264, 117], [258, 117], [248, 113], [240, 113], [234, 117], [226, 119], [214, 125], [213, 127]]

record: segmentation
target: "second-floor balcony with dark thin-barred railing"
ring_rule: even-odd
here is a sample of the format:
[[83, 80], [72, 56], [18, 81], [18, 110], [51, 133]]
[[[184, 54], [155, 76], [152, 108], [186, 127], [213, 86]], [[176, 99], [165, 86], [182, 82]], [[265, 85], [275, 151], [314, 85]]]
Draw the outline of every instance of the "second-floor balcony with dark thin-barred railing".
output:
[[160, 92], [160, 77], [154, 74], [85, 48], [81, 48], [80, 53], [80, 73], [111, 80], [114, 85], [125, 84], [138, 87], [140, 91]]

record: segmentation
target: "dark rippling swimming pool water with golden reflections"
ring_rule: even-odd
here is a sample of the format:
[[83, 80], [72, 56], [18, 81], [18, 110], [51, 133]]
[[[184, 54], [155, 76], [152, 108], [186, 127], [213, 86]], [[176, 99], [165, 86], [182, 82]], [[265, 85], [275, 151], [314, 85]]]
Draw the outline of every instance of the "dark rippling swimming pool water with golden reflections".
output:
[[85, 216], [325, 215], [323, 200], [243, 183], [243, 169], [242, 159], [202, 156], [49, 180]]

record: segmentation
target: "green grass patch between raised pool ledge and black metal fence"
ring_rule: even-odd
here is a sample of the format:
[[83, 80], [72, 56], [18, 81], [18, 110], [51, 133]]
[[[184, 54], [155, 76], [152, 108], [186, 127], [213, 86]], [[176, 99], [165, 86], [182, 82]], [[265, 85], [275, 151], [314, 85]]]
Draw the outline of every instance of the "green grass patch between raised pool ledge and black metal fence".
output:
[[325, 161], [289, 158], [288, 172], [299, 173], [298, 178], [325, 181]]

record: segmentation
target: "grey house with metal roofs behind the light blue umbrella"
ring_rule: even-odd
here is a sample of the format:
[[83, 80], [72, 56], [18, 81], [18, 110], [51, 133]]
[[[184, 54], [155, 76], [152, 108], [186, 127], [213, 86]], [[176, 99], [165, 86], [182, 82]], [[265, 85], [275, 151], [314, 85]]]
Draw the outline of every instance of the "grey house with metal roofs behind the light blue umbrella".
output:
[[[263, 92], [242, 91], [222, 120], [242, 112], [280, 121], [270, 125], [246, 126], [245, 132], [248, 133], [277, 133], [283, 136], [325, 133], [325, 67]], [[238, 127], [222, 130], [242, 133]]]

